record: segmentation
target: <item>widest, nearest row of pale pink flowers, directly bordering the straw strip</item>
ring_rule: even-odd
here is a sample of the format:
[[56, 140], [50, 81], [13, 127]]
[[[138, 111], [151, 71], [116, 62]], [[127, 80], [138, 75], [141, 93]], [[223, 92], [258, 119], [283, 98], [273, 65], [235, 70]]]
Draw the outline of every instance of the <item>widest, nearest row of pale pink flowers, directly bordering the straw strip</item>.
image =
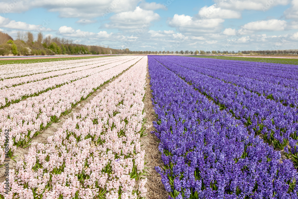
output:
[[147, 56], [64, 122], [47, 144], [34, 143], [10, 170], [4, 198], [143, 198]]

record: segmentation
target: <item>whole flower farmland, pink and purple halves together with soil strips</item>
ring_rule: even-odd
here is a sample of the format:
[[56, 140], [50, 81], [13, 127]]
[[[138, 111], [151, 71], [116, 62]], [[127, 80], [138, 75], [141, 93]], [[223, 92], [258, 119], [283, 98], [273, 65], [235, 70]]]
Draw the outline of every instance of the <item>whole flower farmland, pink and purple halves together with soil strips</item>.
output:
[[4, 64], [0, 198], [298, 198], [297, 72], [156, 55]]

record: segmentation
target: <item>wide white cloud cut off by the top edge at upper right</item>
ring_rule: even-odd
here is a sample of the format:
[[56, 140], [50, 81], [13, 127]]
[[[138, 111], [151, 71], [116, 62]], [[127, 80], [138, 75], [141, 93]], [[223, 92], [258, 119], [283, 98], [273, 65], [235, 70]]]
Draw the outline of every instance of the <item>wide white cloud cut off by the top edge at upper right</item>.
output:
[[290, 0], [215, 0], [218, 7], [230, 10], [262, 10], [267, 11], [277, 5], [287, 5]]

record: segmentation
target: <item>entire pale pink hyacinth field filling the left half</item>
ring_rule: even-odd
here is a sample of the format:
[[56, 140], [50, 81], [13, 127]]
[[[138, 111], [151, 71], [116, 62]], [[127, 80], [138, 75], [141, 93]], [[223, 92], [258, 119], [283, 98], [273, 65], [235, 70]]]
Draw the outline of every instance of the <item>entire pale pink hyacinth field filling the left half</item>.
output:
[[[6, 181], [1, 182], [0, 197], [144, 197], [146, 178], [141, 176], [144, 174], [145, 151], [141, 150], [140, 138], [145, 123], [143, 100], [147, 60], [147, 56], [100, 58], [80, 64], [75, 60], [73, 64], [61, 63], [55, 71], [47, 64], [38, 70], [19, 71], [18, 78], [21, 79], [15, 82], [25, 82], [21, 84], [23, 94], [27, 91], [28, 81], [27, 84], [42, 85], [44, 92], [38, 93], [40, 90], [36, 86], [35, 90], [31, 89], [35, 95], [0, 110], [2, 163], [7, 149], [10, 155], [17, 147], [26, 147], [42, 129], [70, 112], [105, 82], [121, 75], [66, 120], [46, 144], [35, 142], [30, 146], [24, 159], [17, 162], [16, 169], [9, 170], [9, 192]], [[56, 72], [61, 81], [49, 76], [41, 83], [46, 71]], [[39, 73], [43, 76], [36, 77]], [[51, 87], [64, 81], [65, 75], [69, 75], [65, 84]], [[2, 81], [5, 84], [6, 80], [12, 79], [9, 76]], [[10, 95], [9, 92], [5, 94], [6, 98]], [[5, 129], [10, 130], [6, 147]]]

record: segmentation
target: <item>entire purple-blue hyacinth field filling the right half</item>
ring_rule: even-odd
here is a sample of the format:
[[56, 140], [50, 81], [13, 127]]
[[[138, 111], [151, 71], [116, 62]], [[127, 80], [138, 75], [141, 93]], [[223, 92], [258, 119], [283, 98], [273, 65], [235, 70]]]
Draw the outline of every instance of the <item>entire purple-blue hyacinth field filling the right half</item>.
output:
[[297, 198], [297, 66], [178, 56], [148, 65], [156, 171], [171, 198]]

